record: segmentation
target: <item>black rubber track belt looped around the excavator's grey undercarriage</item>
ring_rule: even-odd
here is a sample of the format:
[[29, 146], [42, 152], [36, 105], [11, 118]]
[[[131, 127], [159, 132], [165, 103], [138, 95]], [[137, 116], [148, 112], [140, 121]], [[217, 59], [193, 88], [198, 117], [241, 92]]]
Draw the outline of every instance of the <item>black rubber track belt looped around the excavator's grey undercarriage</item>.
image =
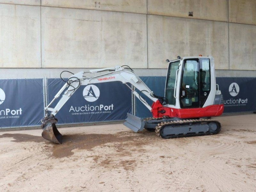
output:
[[[214, 132], [200, 132], [200, 133], [187, 133], [187, 134], [178, 134], [178, 135], [167, 135], [167, 136], [162, 136], [161, 135], [161, 132], [162, 130], [164, 129], [164, 127], [168, 126], [168, 125], [181, 125], [181, 124], [204, 124], [204, 123], [215, 123], [217, 124], [217, 129], [214, 131]], [[193, 137], [193, 136], [202, 136], [202, 135], [213, 135], [213, 134], [217, 134], [220, 132], [220, 129], [221, 129], [221, 125], [220, 125], [220, 122], [218, 121], [213, 121], [213, 120], [210, 120], [210, 119], [185, 119], [185, 120], [179, 120], [179, 121], [172, 121], [172, 122], [162, 122], [162, 123], [159, 123], [157, 126], [156, 126], [156, 129], [155, 129], [155, 132], [156, 134], [159, 136], [159, 137], [162, 137], [164, 139], [172, 139], [172, 138], [180, 138], [180, 137]]]

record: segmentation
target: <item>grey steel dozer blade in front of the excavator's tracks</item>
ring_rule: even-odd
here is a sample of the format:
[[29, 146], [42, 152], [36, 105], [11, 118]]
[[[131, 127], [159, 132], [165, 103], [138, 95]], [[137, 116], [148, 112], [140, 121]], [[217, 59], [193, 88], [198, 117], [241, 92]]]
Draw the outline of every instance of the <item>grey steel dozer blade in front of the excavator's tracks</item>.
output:
[[144, 119], [127, 113], [127, 119], [125, 120], [124, 125], [132, 131], [138, 132], [144, 129], [145, 122]]

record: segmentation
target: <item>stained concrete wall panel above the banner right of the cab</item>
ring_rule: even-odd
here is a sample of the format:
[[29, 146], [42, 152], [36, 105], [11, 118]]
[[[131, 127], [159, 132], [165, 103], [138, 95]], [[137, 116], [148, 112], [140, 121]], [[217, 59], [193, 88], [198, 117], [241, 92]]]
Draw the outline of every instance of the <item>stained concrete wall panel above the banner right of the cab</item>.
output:
[[233, 70], [256, 70], [256, 26], [229, 23], [229, 62]]

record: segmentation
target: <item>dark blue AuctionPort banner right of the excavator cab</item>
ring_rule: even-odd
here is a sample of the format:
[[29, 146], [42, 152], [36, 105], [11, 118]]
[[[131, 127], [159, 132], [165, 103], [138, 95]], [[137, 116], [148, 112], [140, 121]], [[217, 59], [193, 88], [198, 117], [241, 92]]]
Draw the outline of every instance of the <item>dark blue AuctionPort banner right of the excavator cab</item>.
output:
[[224, 98], [224, 113], [256, 111], [256, 78], [218, 77], [216, 83]]

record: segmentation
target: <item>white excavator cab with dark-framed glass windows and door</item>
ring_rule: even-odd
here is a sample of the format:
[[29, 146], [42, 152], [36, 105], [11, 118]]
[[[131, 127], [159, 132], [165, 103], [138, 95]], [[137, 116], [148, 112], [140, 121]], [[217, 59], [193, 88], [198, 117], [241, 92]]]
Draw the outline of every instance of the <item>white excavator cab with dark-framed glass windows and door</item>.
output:
[[212, 57], [186, 57], [169, 63], [165, 85], [168, 107], [203, 108], [213, 105], [215, 94]]

